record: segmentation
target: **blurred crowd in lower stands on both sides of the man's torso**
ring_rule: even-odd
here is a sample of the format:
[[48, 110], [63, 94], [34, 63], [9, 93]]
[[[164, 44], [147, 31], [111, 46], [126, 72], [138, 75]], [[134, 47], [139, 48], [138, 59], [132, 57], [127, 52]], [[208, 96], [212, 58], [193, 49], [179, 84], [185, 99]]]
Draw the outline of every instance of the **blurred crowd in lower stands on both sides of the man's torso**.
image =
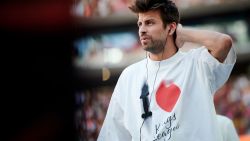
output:
[[[76, 94], [76, 128], [79, 141], [96, 141], [105, 118], [113, 87], [100, 87]], [[218, 114], [232, 119], [238, 134], [250, 134], [250, 79], [231, 76], [214, 97]]]

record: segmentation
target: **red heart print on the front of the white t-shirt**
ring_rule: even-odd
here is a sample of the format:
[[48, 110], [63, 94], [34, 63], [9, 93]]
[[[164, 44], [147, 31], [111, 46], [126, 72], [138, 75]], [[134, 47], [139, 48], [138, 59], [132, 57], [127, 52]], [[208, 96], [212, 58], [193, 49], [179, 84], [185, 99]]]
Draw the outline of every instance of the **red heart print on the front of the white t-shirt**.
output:
[[166, 112], [171, 112], [174, 108], [181, 90], [173, 82], [170, 85], [166, 85], [165, 81], [162, 81], [157, 92], [156, 102]]

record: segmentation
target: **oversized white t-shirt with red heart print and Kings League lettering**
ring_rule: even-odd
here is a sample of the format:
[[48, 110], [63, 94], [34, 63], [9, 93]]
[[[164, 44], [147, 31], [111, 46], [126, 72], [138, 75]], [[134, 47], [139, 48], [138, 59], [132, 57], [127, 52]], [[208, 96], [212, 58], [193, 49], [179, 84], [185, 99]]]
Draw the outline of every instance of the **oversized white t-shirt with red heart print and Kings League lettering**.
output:
[[[233, 48], [220, 63], [201, 47], [178, 51], [163, 61], [147, 58], [130, 65], [118, 79], [97, 140], [140, 141], [141, 136], [141, 141], [222, 141], [213, 95], [235, 62]], [[145, 81], [153, 114], [142, 126], [140, 95]]]

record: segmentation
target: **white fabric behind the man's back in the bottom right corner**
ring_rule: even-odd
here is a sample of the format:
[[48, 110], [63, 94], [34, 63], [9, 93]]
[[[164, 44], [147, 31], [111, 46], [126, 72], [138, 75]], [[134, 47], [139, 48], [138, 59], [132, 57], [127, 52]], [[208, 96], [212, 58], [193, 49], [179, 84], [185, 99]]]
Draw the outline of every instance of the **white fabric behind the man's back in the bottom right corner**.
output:
[[231, 119], [217, 115], [218, 124], [222, 133], [223, 141], [239, 141], [239, 136]]

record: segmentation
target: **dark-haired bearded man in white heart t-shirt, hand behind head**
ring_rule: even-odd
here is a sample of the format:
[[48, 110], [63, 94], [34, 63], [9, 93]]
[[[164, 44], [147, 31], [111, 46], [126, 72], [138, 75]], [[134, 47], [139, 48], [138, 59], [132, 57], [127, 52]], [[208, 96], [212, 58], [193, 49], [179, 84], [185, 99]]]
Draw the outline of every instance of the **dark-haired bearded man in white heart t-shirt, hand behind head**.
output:
[[[213, 95], [236, 62], [230, 36], [179, 24], [170, 0], [136, 0], [147, 57], [120, 75], [98, 141], [222, 141]], [[202, 45], [182, 52], [185, 42]]]

